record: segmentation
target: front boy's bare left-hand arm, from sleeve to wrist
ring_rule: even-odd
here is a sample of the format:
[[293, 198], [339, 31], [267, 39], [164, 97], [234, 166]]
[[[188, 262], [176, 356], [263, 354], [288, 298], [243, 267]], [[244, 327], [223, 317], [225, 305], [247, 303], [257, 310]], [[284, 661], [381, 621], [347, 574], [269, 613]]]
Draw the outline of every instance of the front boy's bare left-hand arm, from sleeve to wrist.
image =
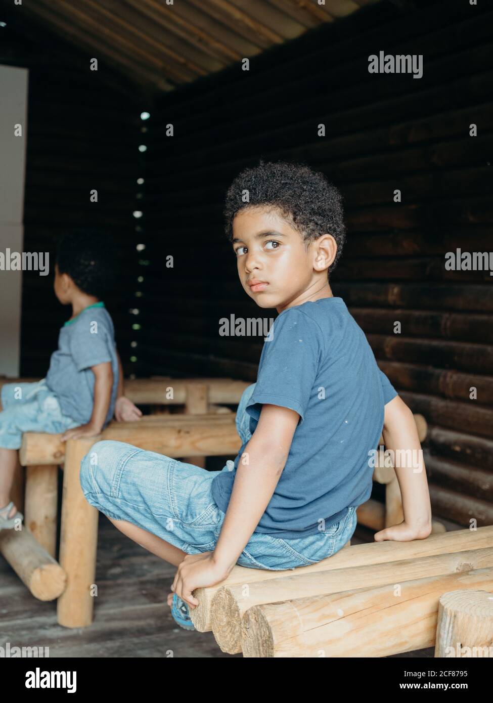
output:
[[262, 406], [255, 432], [236, 469], [231, 498], [212, 557], [226, 575], [236, 564], [269, 505], [286, 465], [299, 419], [300, 415], [290, 408]]

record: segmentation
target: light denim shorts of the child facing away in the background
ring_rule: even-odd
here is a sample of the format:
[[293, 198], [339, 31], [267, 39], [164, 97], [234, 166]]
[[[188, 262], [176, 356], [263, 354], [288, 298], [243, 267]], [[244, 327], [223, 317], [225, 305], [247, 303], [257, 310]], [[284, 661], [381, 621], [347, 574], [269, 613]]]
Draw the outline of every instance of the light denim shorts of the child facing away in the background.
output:
[[1, 388], [0, 447], [20, 449], [23, 432], [58, 434], [80, 423], [64, 415], [44, 378], [35, 383], [6, 383]]

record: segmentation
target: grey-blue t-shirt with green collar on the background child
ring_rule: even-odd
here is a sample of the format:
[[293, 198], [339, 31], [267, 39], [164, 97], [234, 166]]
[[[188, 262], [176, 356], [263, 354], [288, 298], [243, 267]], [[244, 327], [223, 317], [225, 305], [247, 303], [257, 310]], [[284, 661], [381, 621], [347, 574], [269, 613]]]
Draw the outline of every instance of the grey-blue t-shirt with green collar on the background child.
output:
[[51, 354], [46, 385], [58, 396], [64, 415], [81, 425], [89, 423], [94, 408], [94, 373], [91, 366], [111, 362], [113, 387], [104, 426], [113, 418], [118, 389], [118, 358], [113, 321], [104, 303], [89, 305], [65, 322], [58, 349]]

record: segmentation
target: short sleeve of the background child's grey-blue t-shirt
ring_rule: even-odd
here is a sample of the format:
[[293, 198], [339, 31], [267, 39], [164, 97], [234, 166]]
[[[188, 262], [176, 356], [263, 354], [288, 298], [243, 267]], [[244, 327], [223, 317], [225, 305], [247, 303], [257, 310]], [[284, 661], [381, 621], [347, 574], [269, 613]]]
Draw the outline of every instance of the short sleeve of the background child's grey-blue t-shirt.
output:
[[85, 314], [77, 321], [70, 337], [70, 354], [77, 371], [111, 361], [110, 339], [111, 328], [103, 316]]

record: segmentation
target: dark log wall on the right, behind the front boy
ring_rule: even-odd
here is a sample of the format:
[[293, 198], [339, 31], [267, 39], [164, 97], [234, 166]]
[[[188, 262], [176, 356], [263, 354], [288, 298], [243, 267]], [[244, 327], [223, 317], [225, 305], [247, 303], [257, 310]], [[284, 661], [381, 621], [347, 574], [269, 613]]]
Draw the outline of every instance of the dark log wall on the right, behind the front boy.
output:
[[[262, 337], [219, 336], [219, 319], [276, 313], [238, 283], [224, 193], [260, 156], [326, 173], [348, 229], [333, 290], [428, 421], [434, 515], [463, 525], [487, 524], [491, 499], [493, 288], [489, 271], [444, 264], [456, 247], [491, 249], [492, 19], [491, 6], [462, 0], [383, 2], [252, 59], [248, 72], [236, 65], [162, 96], [143, 217], [139, 368], [253, 381]], [[423, 76], [370, 75], [381, 50], [423, 55]]]

